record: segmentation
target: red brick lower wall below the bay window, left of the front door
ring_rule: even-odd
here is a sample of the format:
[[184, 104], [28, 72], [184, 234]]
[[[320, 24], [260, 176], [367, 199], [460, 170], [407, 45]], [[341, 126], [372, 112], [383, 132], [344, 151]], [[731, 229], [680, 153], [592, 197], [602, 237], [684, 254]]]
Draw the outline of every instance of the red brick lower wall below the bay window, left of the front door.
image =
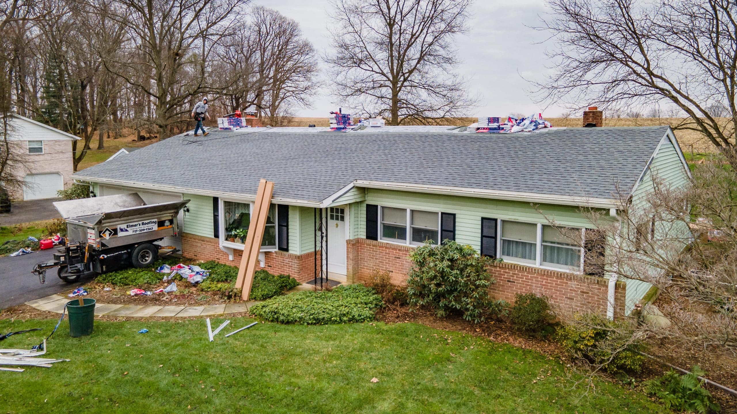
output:
[[[220, 244], [213, 237], [198, 236], [196, 234], [182, 233], [182, 254], [186, 257], [198, 260], [217, 260], [223, 264], [239, 266], [242, 258], [242, 250], [233, 250], [233, 260], [228, 253], [220, 249]], [[269, 273], [290, 275], [299, 282], [306, 282], [315, 277], [315, 254], [293, 254], [284, 251], [270, 251], [265, 253], [264, 264], [256, 263], [256, 270], [265, 269]], [[318, 253], [318, 267], [319, 253]]]

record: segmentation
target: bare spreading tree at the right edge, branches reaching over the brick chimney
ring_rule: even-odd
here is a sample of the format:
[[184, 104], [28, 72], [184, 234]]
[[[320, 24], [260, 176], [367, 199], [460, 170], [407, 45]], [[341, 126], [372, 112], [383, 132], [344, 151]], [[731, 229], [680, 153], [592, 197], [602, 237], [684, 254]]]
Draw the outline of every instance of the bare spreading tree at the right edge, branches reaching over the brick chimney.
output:
[[[553, 0], [540, 29], [555, 42], [555, 71], [538, 99], [576, 106], [643, 107], [670, 102], [677, 128], [734, 152], [737, 9], [732, 0]], [[721, 105], [724, 117], [710, 108]], [[733, 157], [730, 157], [733, 159]]]

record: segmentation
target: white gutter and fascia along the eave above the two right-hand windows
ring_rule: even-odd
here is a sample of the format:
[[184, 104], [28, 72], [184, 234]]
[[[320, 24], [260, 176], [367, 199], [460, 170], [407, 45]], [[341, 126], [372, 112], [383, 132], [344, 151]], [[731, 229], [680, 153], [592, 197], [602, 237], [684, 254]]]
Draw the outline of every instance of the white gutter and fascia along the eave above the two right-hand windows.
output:
[[354, 185], [368, 189], [391, 189], [405, 192], [425, 192], [431, 194], [459, 195], [464, 197], [493, 198], [496, 200], [525, 201], [529, 203], [559, 204], [563, 206], [588, 206], [599, 208], [619, 208], [620, 200], [599, 197], [574, 197], [557, 194], [537, 194], [528, 192], [506, 192], [499, 190], [471, 189], [465, 187], [429, 186], [411, 183], [387, 183], [382, 181], [356, 180]]

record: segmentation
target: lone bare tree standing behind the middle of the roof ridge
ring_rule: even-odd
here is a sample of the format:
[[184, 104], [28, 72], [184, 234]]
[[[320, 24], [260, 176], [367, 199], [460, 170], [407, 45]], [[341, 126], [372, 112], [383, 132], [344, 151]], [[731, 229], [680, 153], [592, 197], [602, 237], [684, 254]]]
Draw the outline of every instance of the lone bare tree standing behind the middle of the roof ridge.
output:
[[475, 102], [455, 73], [456, 35], [472, 0], [335, 0], [330, 87], [337, 99], [388, 124], [465, 115]]

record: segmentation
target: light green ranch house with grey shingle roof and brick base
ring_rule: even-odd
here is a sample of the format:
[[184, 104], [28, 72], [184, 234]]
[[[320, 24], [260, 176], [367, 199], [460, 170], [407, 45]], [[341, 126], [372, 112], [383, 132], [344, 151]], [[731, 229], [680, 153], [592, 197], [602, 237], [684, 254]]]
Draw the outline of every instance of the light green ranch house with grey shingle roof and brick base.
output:
[[[385, 271], [402, 284], [408, 255], [445, 239], [500, 257], [491, 293], [547, 295], [565, 312], [621, 317], [651, 286], [584, 273], [587, 254], [549, 225], [595, 226], [581, 207], [616, 220], [621, 193], [653, 191], [657, 175], [687, 182], [670, 127], [552, 128], [534, 133], [446, 127], [215, 130], [167, 138], [73, 175], [97, 196], [147, 203], [190, 200], [178, 236], [184, 256], [240, 264], [259, 179], [274, 182], [257, 267], [301, 282], [343, 283]], [[317, 252], [317, 254], [315, 254]]]

